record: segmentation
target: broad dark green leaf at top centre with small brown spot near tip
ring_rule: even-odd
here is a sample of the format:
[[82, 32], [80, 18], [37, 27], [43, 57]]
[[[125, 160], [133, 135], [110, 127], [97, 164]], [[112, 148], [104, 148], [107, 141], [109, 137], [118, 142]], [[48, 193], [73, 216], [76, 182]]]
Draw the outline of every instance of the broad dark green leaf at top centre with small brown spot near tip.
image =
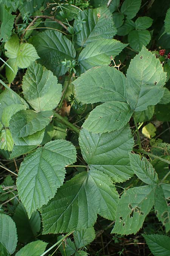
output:
[[113, 38], [116, 35], [111, 12], [106, 6], [80, 12], [74, 21], [74, 30], [76, 43], [81, 47], [102, 38]]

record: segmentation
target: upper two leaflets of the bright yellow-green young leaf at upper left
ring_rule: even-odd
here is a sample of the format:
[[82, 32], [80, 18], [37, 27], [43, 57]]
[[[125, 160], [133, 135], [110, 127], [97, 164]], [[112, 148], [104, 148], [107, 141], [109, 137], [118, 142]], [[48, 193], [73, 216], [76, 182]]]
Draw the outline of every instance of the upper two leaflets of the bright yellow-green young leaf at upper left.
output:
[[9, 41], [5, 43], [4, 47], [7, 50], [7, 52], [5, 52], [6, 56], [10, 59], [15, 59], [17, 66], [20, 68], [28, 68], [31, 62], [39, 58], [32, 44], [19, 44], [17, 35], [12, 36]]

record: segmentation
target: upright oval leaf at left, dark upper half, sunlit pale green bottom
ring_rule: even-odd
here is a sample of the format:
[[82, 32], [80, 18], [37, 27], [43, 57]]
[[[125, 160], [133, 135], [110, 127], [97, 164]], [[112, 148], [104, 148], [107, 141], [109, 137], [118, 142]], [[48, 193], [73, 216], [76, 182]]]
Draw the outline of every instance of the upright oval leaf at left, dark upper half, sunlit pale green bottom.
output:
[[37, 112], [52, 110], [59, 104], [62, 85], [53, 73], [33, 63], [26, 71], [22, 84], [23, 94]]

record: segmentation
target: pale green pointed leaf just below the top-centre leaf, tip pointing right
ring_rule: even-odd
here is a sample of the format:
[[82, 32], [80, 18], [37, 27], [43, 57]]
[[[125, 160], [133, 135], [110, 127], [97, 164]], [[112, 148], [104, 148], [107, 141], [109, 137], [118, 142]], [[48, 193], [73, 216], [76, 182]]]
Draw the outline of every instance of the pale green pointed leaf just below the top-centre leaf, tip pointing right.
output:
[[110, 56], [118, 55], [127, 44], [123, 44], [116, 39], [100, 39], [89, 43], [78, 57], [79, 73], [94, 66], [103, 66], [110, 63]]

